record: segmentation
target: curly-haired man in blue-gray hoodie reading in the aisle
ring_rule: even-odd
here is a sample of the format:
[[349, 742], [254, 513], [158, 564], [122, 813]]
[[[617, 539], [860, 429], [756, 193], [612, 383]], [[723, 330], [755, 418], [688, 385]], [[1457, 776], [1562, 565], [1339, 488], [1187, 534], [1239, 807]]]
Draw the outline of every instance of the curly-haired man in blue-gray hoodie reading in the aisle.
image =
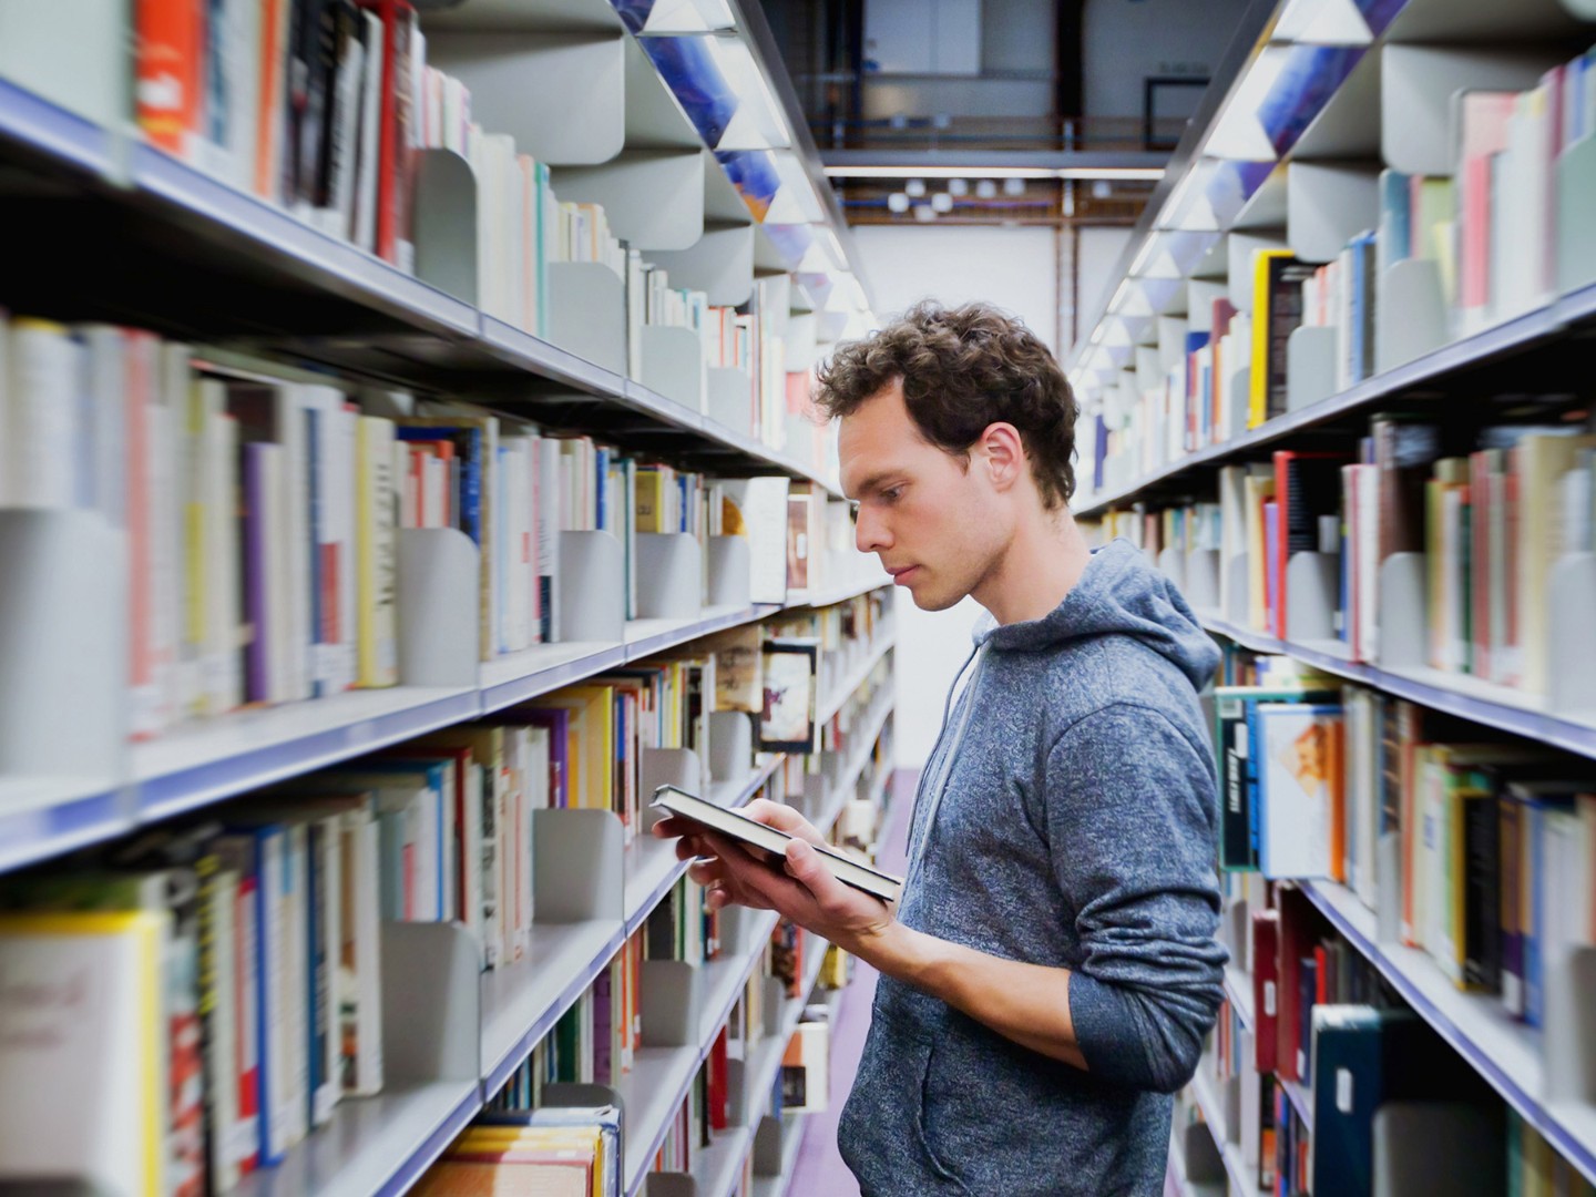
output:
[[[921, 777], [895, 911], [681, 820], [710, 902], [774, 908], [883, 975], [843, 1157], [867, 1195], [1157, 1194], [1223, 999], [1218, 801], [1176, 589], [1066, 508], [1076, 402], [1023, 326], [921, 305], [820, 373], [857, 543], [926, 610], [972, 595], [969, 683]], [[696, 833], [694, 833], [696, 832]]]

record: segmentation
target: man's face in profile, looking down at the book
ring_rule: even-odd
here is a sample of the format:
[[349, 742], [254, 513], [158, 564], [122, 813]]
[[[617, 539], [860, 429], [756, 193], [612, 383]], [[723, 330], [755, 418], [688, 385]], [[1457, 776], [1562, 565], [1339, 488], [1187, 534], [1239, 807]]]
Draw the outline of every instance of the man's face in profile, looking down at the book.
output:
[[894, 381], [841, 420], [843, 493], [859, 504], [854, 543], [873, 552], [915, 605], [942, 611], [970, 594], [996, 562], [1004, 519], [970, 469], [927, 442]]

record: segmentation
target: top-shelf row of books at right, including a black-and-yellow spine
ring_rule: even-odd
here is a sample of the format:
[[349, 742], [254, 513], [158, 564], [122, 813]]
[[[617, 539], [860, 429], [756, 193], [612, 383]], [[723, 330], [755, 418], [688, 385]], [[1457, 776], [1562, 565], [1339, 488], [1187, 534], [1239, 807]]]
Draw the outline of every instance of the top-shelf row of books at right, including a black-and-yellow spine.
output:
[[1377, 227], [1329, 263], [1298, 260], [1283, 241], [1256, 238], [1251, 311], [1238, 311], [1223, 284], [1189, 282], [1189, 316], [1159, 318], [1156, 346], [1135, 351], [1132, 369], [1104, 391], [1101, 415], [1088, 417], [1095, 488], [1127, 485], [1283, 415], [1298, 327], [1334, 334], [1334, 378], [1323, 393], [1371, 377], [1381, 279], [1398, 263], [1433, 263], [1443, 340], [1555, 295], [1559, 230], [1583, 219], [1580, 209], [1559, 212], [1559, 163], [1596, 134], [1593, 70], [1596, 48], [1529, 91], [1459, 91], [1456, 174], [1381, 172]]

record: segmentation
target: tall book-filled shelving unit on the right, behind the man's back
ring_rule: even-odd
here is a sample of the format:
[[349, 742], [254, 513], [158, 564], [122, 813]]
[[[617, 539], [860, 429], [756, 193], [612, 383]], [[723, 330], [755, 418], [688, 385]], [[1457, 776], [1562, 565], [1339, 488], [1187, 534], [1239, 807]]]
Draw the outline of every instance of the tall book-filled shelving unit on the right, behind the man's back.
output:
[[[1531, 463], [1540, 461], [1537, 436], [1596, 431], [1583, 396], [1555, 397], [1596, 327], [1586, 220], [1596, 195], [1596, 136], [1577, 102], [1593, 78], [1596, 26], [1588, 5], [1562, 0], [1511, 11], [1475, 0], [1408, 0], [1379, 10], [1360, 5], [1357, 13], [1331, 3], [1259, 3], [1245, 29], [1068, 364], [1084, 401], [1082, 440], [1093, 445], [1084, 450], [1090, 464], [1079, 517], [1128, 535], [1181, 586], [1227, 662], [1246, 662], [1227, 680], [1275, 686], [1275, 678], [1306, 667], [1321, 675], [1312, 685], [1318, 693], [1349, 683], [1339, 699], [1323, 699], [1341, 712], [1333, 718], [1344, 720], [1345, 768], [1360, 771], [1349, 771], [1342, 787], [1349, 814], [1337, 832], [1349, 836], [1345, 857], [1331, 851], [1326, 876], [1277, 868], [1267, 900], [1261, 883], [1254, 891], [1254, 875], [1226, 875], [1232, 967], [1224, 1017], [1234, 1021], [1216, 1039], [1234, 1042], [1238, 1031], [1248, 1042], [1240, 1068], [1250, 1073], [1266, 1055], [1254, 1060], [1250, 1041], [1272, 1041], [1277, 1018], [1282, 1052], [1288, 1044], [1307, 1052], [1310, 1034], [1318, 1042], [1299, 1004], [1409, 1009], [1468, 1074], [1456, 1077], [1468, 1082], [1459, 1092], [1479, 1088], [1470, 1100], [1489, 1103], [1492, 1116], [1507, 1111], [1505, 1167], [1524, 1167], [1535, 1154], [1548, 1184], [1574, 1189], [1596, 1181], [1596, 1093], [1582, 1071], [1593, 1058], [1590, 1034], [1555, 1005], [1542, 1025], [1535, 1012], [1515, 1009], [1507, 985], [1518, 974], [1505, 958], [1481, 964], [1479, 945], [1492, 934], [1537, 942], [1524, 951], [1547, 953], [1537, 982], [1547, 1001], [1583, 1004], [1588, 991], [1570, 986], [1591, 943], [1578, 913], [1590, 903], [1590, 878], [1542, 860], [1539, 825], [1523, 833], [1519, 843], [1531, 844], [1524, 852], [1537, 855], [1534, 863], [1524, 855], [1518, 873], [1503, 871], [1510, 855], [1495, 843], [1476, 838], [1475, 855], [1456, 855], [1462, 839], [1451, 836], [1467, 808], [1465, 766], [1435, 766], [1440, 772], [1424, 774], [1424, 784], [1446, 779], [1435, 780], [1438, 804], [1401, 811], [1414, 782], [1390, 766], [1398, 742], [1403, 752], [1433, 744], [1435, 760], [1444, 761], [1452, 750], [1467, 757], [1500, 744], [1505, 733], [1518, 737], [1510, 752], [1540, 761], [1545, 776], [1569, 779], [1569, 801], [1593, 788], [1586, 780], [1596, 776], [1596, 702], [1588, 680], [1596, 656], [1586, 616], [1596, 602], [1596, 544], [1580, 531], [1590, 500], [1578, 476], [1596, 474], [1577, 455], [1569, 466]], [[1484, 113], [1502, 123], [1487, 129]], [[1545, 134], [1539, 153], [1524, 153], [1518, 140], [1531, 129]], [[1524, 200], [1519, 188], [1531, 185], [1540, 190]], [[1299, 310], [1291, 306], [1298, 298]], [[1519, 396], [1521, 405], [1508, 396]], [[1396, 437], [1389, 433], [1409, 425], [1436, 434], [1433, 452], [1414, 466], [1414, 493], [1424, 492], [1416, 506], [1392, 501], [1396, 466], [1389, 447]], [[1293, 504], [1302, 492], [1293, 487], [1312, 469], [1294, 463], [1315, 453], [1334, 458], [1339, 474], [1331, 479], [1329, 464], [1320, 466], [1326, 485], [1315, 511], [1325, 516], [1323, 539], [1318, 552], [1307, 543], [1288, 549], [1264, 522], [1274, 506], [1282, 528], [1306, 528], [1288, 523], [1301, 514]], [[1484, 468], [1492, 453], [1503, 463], [1495, 474]], [[1449, 455], [1467, 479], [1443, 477], [1451, 466], [1440, 464], [1432, 474], [1432, 463]], [[1555, 488], [1537, 490], [1529, 508], [1531, 492], [1494, 490], [1508, 476], [1537, 484], [1550, 477]], [[1365, 482], [1369, 488], [1360, 492]], [[1443, 498], [1448, 485], [1454, 488]], [[1464, 487], [1467, 500], [1459, 498]], [[1448, 503], [1468, 504], [1473, 539], [1446, 539], [1457, 512]], [[1503, 509], [1516, 520], [1508, 533], [1494, 523]], [[1339, 544], [1333, 525], [1345, 533]], [[1553, 525], [1542, 567], [1534, 555], [1540, 530]], [[1527, 555], [1515, 555], [1505, 570], [1502, 557], [1491, 555], [1502, 546]], [[1465, 557], [1468, 565], [1460, 565]], [[1503, 610], [1513, 611], [1505, 634]], [[1254, 654], [1280, 669], [1254, 677]], [[1251, 712], [1278, 699], [1231, 691], [1229, 701]], [[1379, 721], [1392, 712], [1411, 715], [1417, 729], [1393, 733]], [[1219, 717], [1224, 734], [1234, 726], [1227, 718]], [[1250, 731], [1264, 736], [1262, 726]], [[1234, 752], [1274, 760], [1274, 744]], [[1553, 750], [1567, 755], [1548, 758]], [[1221, 750], [1221, 768], [1234, 752]], [[1483, 790], [1468, 796], [1486, 800], [1467, 808], [1475, 828], [1495, 828], [1499, 811], [1500, 827], [1513, 827], [1519, 803], [1537, 801], [1526, 796], [1531, 788], [1513, 788], [1515, 777], [1526, 776], [1513, 768], [1470, 774]], [[1262, 806], [1262, 825], [1274, 819], [1278, 830], [1283, 816], [1270, 814], [1267, 785], [1259, 780], [1245, 801]], [[1548, 798], [1547, 809], [1562, 811], [1558, 801]], [[1583, 827], [1583, 814], [1570, 817]], [[1448, 836], [1454, 855], [1441, 865], [1427, 862], [1428, 849], [1403, 855], [1417, 822], [1425, 835]], [[1259, 835], [1258, 824], [1253, 832]], [[1277, 851], [1312, 835], [1277, 838]], [[1253, 839], [1254, 851], [1259, 843]], [[1227, 867], [1234, 851], [1227, 841]], [[1472, 897], [1462, 897], [1465, 884], [1475, 887]], [[1548, 924], [1542, 905], [1511, 926], [1486, 915], [1456, 930], [1456, 946], [1448, 932], [1432, 934], [1425, 924], [1398, 930], [1398, 907], [1428, 902], [1432, 886], [1444, 889], [1444, 903], [1457, 897], [1456, 907], [1440, 907], [1444, 921], [1454, 910], [1495, 911], [1483, 894], [1511, 894], [1515, 884], [1547, 910], [1575, 911], [1569, 930]], [[1274, 932], [1246, 922], [1264, 907], [1278, 911], [1278, 948]], [[1516, 903], [1503, 899], [1502, 910], [1503, 919], [1516, 918]], [[1243, 915], [1240, 924], [1234, 913]], [[1293, 951], [1288, 922], [1302, 937], [1293, 938]], [[1278, 951], [1278, 1013], [1254, 1010], [1253, 977], [1243, 967], [1266, 940]], [[1314, 983], [1314, 958], [1318, 998], [1310, 988], [1299, 999], [1298, 980]], [[1337, 996], [1349, 990], [1357, 996]], [[1286, 1023], [1299, 1017], [1299, 1025]], [[1232, 1053], [1221, 1071], [1235, 1066]], [[1278, 1071], [1296, 1074], [1285, 1058]], [[1272, 1124], [1264, 1112], [1264, 1124], [1285, 1136], [1282, 1167], [1307, 1159], [1315, 1176], [1328, 1175], [1317, 1146], [1302, 1156], [1315, 1130], [1333, 1124], [1341, 1144], [1349, 1132], [1365, 1135], [1366, 1144], [1369, 1132], [1369, 1124], [1329, 1109], [1323, 1084], [1282, 1079]], [[1314, 1109], [1315, 1087], [1321, 1111]], [[1199, 1104], [1215, 1104], [1211, 1074], [1200, 1071], [1192, 1088]], [[1323, 1116], [1317, 1125], [1315, 1112]], [[1224, 1149], [1224, 1120], [1208, 1124]], [[1523, 1157], [1513, 1156], [1518, 1144]], [[1232, 1192], [1256, 1187], [1256, 1175], [1229, 1171]], [[1171, 1173], [1178, 1179], [1176, 1165]], [[1508, 1176], [1510, 1184], [1534, 1183], [1523, 1171]]]

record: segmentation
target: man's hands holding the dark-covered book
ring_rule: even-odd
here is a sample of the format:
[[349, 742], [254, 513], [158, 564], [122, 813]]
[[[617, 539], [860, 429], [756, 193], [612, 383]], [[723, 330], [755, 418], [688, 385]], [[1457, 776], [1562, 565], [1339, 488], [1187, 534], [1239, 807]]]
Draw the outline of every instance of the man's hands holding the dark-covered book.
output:
[[793, 836], [784, 868], [760, 859], [760, 849], [702, 824], [662, 819], [654, 825], [658, 836], [680, 836], [677, 859], [696, 860], [688, 873], [709, 891], [712, 910], [726, 905], [774, 910], [855, 956], [892, 926], [891, 907], [832, 875], [814, 847], [825, 839], [795, 809], [755, 798], [742, 814]]

